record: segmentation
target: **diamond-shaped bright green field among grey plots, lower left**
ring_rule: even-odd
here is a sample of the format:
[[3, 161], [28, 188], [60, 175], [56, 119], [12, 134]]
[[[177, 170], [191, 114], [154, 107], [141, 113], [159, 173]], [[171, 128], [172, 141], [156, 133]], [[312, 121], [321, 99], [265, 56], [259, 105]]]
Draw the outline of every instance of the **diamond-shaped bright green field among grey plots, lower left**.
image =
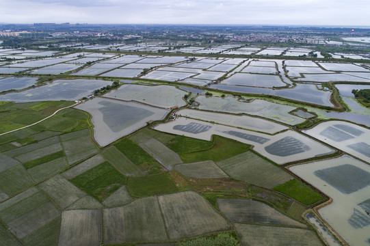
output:
[[70, 181], [101, 202], [122, 187], [126, 177], [104, 162]]

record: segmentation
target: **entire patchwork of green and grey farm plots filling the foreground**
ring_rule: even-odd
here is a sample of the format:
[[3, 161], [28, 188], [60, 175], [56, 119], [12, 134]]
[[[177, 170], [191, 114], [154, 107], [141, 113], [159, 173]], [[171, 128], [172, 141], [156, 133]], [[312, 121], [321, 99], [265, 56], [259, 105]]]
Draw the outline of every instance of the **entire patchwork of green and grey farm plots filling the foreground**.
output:
[[301, 215], [326, 198], [225, 137], [142, 128], [99, 148], [89, 115], [63, 109], [1, 135], [0, 159], [5, 245], [249, 245], [261, 233], [322, 245]]

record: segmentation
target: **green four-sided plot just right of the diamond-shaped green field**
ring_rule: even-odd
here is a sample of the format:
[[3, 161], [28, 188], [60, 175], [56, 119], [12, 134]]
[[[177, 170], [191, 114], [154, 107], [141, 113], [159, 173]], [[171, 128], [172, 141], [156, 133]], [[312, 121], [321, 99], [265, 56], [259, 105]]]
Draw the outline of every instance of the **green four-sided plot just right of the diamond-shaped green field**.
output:
[[170, 174], [163, 173], [153, 176], [129, 178], [127, 189], [133, 197], [146, 197], [179, 191]]

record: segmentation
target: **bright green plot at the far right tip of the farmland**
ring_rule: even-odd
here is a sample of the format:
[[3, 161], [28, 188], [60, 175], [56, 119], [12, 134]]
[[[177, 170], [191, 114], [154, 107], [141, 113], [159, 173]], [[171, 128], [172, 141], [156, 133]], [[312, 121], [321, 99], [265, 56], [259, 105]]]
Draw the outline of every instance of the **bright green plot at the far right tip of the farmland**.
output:
[[313, 189], [306, 186], [306, 184], [296, 179], [289, 180], [284, 184], [279, 184], [274, 187], [274, 191], [284, 193], [285, 195], [288, 195], [306, 205], [315, 204], [316, 202], [323, 200], [323, 197], [319, 193], [316, 193]]

